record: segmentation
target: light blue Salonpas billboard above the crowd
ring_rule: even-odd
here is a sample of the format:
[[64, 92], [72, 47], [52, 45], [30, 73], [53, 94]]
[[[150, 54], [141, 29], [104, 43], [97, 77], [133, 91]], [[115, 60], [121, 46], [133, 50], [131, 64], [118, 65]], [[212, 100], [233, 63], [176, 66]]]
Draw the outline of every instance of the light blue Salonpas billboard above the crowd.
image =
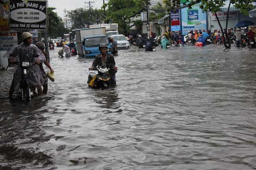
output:
[[195, 4], [192, 9], [181, 9], [182, 18], [182, 34], [186, 35], [187, 31], [195, 31], [195, 29], [206, 30], [207, 28], [207, 15], [202, 12], [199, 7], [200, 4]]

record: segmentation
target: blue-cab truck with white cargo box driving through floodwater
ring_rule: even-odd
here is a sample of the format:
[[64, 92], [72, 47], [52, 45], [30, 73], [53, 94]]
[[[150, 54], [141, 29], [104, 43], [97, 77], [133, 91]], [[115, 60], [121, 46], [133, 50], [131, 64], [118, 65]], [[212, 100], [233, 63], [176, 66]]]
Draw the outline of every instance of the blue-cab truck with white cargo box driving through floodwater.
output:
[[72, 34], [76, 38], [78, 55], [82, 57], [94, 57], [99, 54], [100, 43], [108, 44], [108, 51], [110, 51], [105, 27], [74, 29]]

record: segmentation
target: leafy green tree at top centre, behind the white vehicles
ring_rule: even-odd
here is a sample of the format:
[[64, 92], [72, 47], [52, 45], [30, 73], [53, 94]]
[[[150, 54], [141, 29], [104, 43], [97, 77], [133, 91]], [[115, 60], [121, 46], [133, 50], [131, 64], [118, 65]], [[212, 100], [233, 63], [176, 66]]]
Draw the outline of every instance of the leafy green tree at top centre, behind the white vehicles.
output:
[[107, 8], [105, 21], [117, 23], [119, 32], [126, 34], [130, 18], [145, 11], [145, 0], [109, 0], [103, 8]]

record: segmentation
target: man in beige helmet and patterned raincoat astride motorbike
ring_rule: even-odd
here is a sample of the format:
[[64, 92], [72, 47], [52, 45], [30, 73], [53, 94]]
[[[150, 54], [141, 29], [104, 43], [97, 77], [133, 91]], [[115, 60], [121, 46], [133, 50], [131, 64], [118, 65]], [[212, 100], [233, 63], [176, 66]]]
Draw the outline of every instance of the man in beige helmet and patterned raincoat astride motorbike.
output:
[[[32, 86], [35, 86], [37, 88], [39, 95], [41, 95], [43, 94], [41, 85], [43, 85], [44, 79], [38, 64], [45, 62], [46, 58], [45, 55], [43, 55], [43, 53], [40, 51], [40, 49], [32, 44], [32, 36], [33, 35], [28, 32], [22, 33], [22, 35], [20, 36], [22, 43], [9, 51], [9, 53], [12, 53], [11, 56], [15, 55], [15, 57], [8, 58], [10, 63], [13, 63], [17, 59], [19, 60], [19, 62], [36, 63], [35, 65], [31, 66], [29, 80]], [[19, 84], [22, 79], [21, 71], [22, 70], [19, 66], [13, 74], [13, 81], [11, 83], [11, 88], [9, 91], [10, 99], [13, 95], [15, 86], [17, 86], [17, 84]]]

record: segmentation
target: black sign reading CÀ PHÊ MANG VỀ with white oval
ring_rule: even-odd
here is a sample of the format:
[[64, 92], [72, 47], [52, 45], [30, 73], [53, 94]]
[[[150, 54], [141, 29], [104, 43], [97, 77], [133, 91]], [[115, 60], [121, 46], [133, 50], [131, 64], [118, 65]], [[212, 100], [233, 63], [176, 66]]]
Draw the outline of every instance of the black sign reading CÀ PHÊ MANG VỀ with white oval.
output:
[[46, 30], [47, 1], [10, 0], [10, 28]]

